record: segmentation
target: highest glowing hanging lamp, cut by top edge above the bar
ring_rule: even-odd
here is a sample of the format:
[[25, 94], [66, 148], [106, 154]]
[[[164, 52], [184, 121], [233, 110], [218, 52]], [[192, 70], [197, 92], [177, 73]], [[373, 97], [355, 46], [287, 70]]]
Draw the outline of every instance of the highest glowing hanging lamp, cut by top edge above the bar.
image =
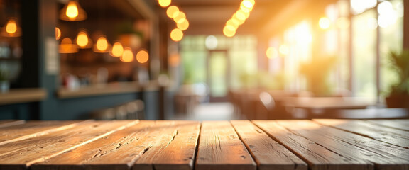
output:
[[64, 21], [82, 21], [87, 19], [87, 13], [78, 1], [71, 0], [60, 11], [60, 19]]

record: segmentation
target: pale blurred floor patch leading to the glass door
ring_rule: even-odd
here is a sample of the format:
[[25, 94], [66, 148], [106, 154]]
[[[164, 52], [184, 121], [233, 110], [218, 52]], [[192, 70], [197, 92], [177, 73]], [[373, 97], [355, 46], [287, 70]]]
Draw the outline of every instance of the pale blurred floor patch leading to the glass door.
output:
[[187, 115], [175, 115], [175, 120], [234, 120], [239, 115], [234, 114], [231, 103], [202, 103], [193, 109], [193, 113]]

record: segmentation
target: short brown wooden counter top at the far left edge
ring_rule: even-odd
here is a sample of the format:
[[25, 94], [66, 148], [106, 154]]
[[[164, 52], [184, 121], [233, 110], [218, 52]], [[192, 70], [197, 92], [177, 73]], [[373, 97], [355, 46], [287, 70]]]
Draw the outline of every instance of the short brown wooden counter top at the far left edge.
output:
[[47, 96], [45, 89], [10, 89], [0, 94], [0, 105], [42, 101]]

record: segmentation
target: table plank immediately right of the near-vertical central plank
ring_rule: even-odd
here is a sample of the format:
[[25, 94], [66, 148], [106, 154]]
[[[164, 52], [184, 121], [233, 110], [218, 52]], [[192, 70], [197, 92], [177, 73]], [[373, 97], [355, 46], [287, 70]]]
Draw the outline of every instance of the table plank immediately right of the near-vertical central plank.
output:
[[256, 160], [258, 170], [307, 169], [305, 162], [283, 145], [268, 137], [263, 130], [253, 125], [249, 120], [231, 120], [231, 124]]

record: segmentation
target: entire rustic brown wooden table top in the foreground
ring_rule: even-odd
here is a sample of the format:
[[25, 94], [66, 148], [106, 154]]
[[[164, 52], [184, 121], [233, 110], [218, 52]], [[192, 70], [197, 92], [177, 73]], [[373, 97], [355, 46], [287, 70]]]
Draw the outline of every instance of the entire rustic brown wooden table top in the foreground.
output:
[[0, 169], [409, 169], [409, 120], [0, 120]]

